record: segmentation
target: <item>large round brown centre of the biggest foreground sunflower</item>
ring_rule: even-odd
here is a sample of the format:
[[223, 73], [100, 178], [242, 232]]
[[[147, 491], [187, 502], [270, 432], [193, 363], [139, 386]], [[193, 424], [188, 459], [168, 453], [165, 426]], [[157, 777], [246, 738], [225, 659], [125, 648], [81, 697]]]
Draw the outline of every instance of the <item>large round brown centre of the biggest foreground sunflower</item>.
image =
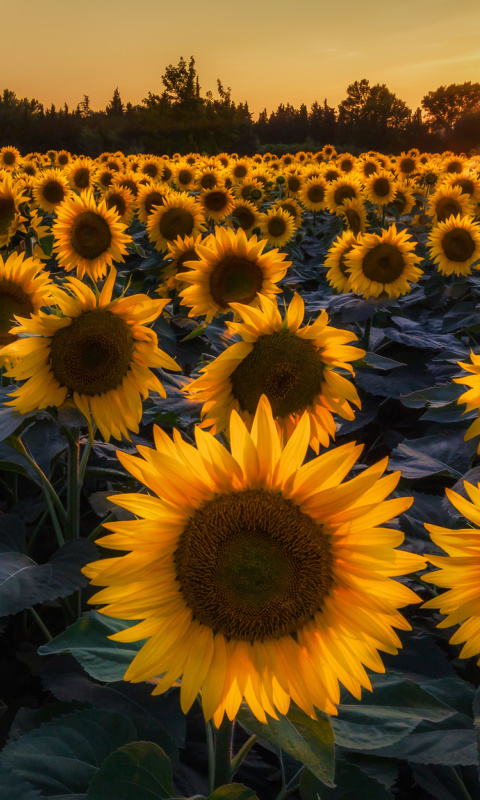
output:
[[197, 509], [174, 556], [187, 605], [229, 639], [294, 634], [332, 583], [321, 525], [265, 489], [221, 494]]

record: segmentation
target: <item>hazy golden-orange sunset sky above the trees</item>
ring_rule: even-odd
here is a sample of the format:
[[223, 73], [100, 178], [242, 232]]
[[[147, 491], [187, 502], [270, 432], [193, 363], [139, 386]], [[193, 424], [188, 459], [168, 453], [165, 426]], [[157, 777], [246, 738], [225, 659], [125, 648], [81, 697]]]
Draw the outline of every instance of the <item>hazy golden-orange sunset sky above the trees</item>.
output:
[[480, 82], [478, 0], [23, 0], [2, 37], [0, 91], [103, 110], [161, 94], [194, 56], [202, 96], [217, 78], [254, 119], [280, 103], [336, 107], [347, 86], [384, 83], [415, 111], [450, 83]]

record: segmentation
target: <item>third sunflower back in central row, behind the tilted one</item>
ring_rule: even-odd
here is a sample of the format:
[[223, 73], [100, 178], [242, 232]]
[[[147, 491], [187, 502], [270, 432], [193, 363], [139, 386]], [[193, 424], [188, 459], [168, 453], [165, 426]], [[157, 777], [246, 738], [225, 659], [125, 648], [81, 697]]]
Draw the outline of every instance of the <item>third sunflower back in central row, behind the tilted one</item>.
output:
[[183, 303], [191, 306], [189, 316], [206, 315], [211, 322], [218, 313], [230, 310], [231, 303], [251, 305], [258, 296], [273, 297], [281, 289], [281, 280], [291, 261], [275, 248], [264, 253], [265, 239], [254, 235], [247, 239], [245, 232], [215, 228], [209, 246], [199, 245], [200, 261], [186, 262], [190, 272], [177, 277], [191, 284], [181, 292]]

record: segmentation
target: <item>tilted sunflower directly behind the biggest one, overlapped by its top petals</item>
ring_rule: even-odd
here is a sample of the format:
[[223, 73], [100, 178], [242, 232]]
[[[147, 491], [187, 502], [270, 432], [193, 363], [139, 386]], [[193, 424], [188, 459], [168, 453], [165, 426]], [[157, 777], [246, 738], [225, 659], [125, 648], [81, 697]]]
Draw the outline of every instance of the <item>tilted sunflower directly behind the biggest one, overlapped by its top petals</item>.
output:
[[328, 446], [330, 437], [335, 438], [332, 415], [352, 420], [350, 403], [360, 407], [355, 387], [337, 370], [353, 374], [348, 362], [362, 358], [365, 351], [349, 346], [348, 342], [357, 341], [355, 334], [331, 328], [325, 311], [312, 325], [301, 328], [305, 306], [299, 295], [283, 321], [275, 301], [259, 299], [261, 309], [232, 303], [243, 323], [227, 322], [227, 327], [242, 341], [203, 367], [203, 374], [185, 392], [194, 402], [204, 403], [202, 427], [211, 426], [214, 433], [228, 427], [232, 409], [251, 427], [262, 394], [268, 397], [285, 438], [306, 411], [310, 444], [318, 452], [319, 444]]

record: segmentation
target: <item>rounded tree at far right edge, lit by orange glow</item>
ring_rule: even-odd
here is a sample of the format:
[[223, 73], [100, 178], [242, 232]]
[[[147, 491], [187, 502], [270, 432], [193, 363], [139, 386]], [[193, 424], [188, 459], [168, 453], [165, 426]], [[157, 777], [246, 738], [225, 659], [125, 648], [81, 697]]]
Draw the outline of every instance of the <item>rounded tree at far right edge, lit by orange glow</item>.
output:
[[449, 133], [466, 114], [480, 111], [480, 83], [451, 83], [439, 86], [422, 100], [426, 121], [432, 131]]

